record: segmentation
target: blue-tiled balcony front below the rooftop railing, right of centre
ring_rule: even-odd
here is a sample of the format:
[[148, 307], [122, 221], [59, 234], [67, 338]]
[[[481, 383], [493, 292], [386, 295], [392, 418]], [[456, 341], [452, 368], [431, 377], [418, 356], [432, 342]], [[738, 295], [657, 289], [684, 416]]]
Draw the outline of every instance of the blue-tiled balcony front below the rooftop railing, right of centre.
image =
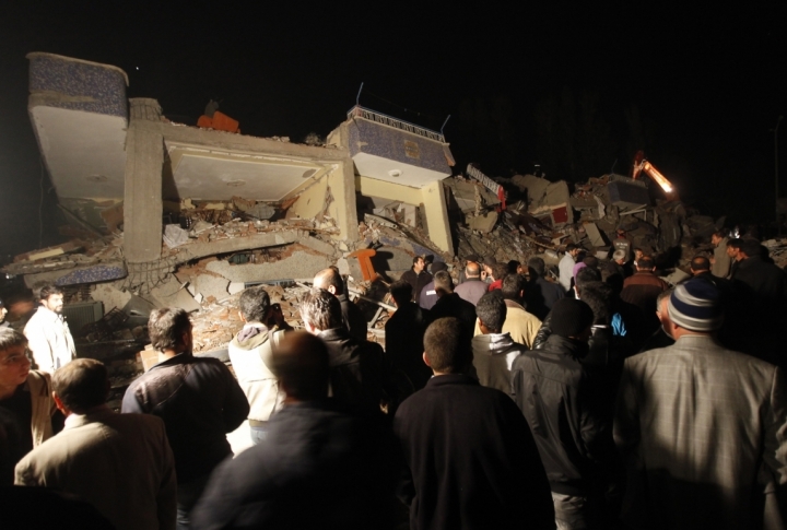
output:
[[362, 118], [351, 119], [348, 131], [352, 156], [366, 153], [445, 175], [451, 173], [441, 142]]

